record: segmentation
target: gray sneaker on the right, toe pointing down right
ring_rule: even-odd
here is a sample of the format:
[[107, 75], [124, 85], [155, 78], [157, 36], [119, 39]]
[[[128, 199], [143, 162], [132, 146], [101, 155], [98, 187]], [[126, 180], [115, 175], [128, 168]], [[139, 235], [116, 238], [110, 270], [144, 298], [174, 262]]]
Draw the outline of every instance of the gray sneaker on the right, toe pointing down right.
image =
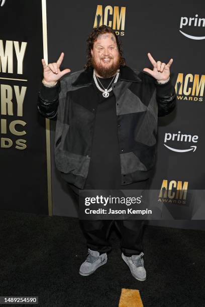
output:
[[144, 253], [141, 252], [139, 255], [132, 255], [132, 257], [126, 257], [124, 253], [122, 253], [122, 258], [129, 266], [132, 275], [140, 281], [146, 279], [146, 270], [144, 268], [144, 260], [142, 259], [143, 255]]

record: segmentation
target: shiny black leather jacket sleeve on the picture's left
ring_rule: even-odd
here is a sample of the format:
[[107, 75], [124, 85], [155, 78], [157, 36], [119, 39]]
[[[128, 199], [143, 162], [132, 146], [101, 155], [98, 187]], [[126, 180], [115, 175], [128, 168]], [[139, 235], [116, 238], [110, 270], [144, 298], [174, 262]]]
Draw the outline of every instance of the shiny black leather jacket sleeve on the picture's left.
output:
[[57, 119], [60, 90], [60, 81], [54, 87], [47, 87], [43, 83], [41, 84], [38, 91], [37, 109], [43, 117], [53, 120]]

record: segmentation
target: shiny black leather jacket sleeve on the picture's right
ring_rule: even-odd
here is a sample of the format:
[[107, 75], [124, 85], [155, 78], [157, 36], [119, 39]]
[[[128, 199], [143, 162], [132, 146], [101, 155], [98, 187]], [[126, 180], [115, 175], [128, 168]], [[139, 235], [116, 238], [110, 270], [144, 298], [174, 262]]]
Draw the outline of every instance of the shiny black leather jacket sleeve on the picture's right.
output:
[[174, 86], [169, 80], [165, 84], [159, 84], [155, 80], [156, 99], [158, 103], [158, 116], [169, 114], [176, 105], [176, 92]]

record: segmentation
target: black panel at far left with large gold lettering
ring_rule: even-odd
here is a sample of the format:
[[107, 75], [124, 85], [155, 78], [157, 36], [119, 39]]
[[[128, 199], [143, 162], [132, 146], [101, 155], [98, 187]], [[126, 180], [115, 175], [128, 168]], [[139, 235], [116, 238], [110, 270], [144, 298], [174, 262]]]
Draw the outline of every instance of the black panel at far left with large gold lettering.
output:
[[[2, 41], [3, 44], [1, 62], [6, 42], [19, 42], [20, 48], [22, 42], [27, 43], [22, 73], [17, 71], [14, 43], [13, 56], [11, 49], [9, 50], [9, 58], [13, 59], [13, 73], [8, 72], [8, 66], [6, 71], [1, 67], [0, 72], [1, 94], [3, 85], [9, 86], [6, 95], [11, 94], [11, 89], [13, 94], [13, 115], [1, 112], [1, 120], [5, 122], [6, 119], [8, 129], [7, 133], [3, 133], [3, 128], [1, 129], [1, 209], [48, 214], [45, 118], [39, 116], [36, 107], [43, 57], [41, 1], [6, 0], [4, 6], [0, 7], [0, 21], [0, 43]], [[15, 86], [19, 86], [20, 92], [22, 87], [26, 87], [23, 116], [17, 114]], [[1, 106], [4, 103], [5, 98], [1, 96]], [[25, 130], [26, 134], [15, 135], [10, 132], [9, 125], [14, 120], [26, 123], [24, 126], [16, 125], [17, 131]], [[3, 138], [11, 139], [12, 146], [3, 147]], [[25, 149], [15, 148], [18, 139], [24, 140]]]

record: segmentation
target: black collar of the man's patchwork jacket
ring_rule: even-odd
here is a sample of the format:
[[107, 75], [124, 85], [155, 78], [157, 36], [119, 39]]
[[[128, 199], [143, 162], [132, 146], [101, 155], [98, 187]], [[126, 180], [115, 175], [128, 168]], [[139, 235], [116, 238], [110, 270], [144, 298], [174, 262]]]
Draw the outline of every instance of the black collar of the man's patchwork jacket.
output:
[[[92, 84], [93, 67], [86, 68], [82, 71], [77, 79], [72, 83], [73, 86]], [[142, 82], [142, 79], [128, 66], [120, 66], [120, 80]]]

